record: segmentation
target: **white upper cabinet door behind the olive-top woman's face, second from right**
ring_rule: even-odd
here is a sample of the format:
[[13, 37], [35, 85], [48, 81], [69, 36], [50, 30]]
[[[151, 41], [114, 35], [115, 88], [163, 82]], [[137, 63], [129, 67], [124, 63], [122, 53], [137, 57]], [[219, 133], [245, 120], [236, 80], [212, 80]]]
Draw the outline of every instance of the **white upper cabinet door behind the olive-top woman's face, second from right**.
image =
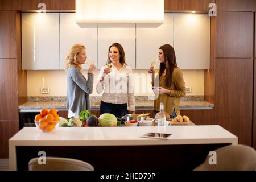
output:
[[[136, 69], [148, 69], [151, 60], [158, 57], [159, 47], [173, 45], [173, 14], [164, 14], [164, 23], [159, 27], [144, 27], [136, 24]], [[159, 63], [155, 67], [159, 69]]]

